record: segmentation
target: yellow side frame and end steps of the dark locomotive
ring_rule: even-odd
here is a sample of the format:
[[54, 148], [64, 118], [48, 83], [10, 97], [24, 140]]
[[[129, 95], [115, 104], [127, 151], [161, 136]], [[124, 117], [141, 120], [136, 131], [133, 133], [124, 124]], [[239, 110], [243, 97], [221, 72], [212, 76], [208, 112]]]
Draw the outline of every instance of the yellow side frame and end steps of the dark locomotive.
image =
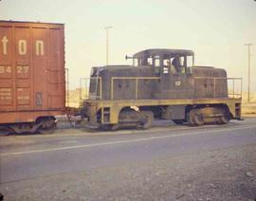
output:
[[[119, 113], [121, 109], [125, 107], [137, 106], [163, 106], [166, 105], [227, 105], [229, 107], [229, 112], [232, 115], [232, 119], [241, 119], [241, 99], [198, 99], [198, 100], [86, 100], [86, 105], [83, 108], [86, 108], [87, 111], [84, 111], [84, 114], [87, 114], [89, 119], [89, 123], [92, 125], [97, 125], [97, 114], [101, 110], [101, 108], [110, 108], [109, 117], [110, 120], [108, 122], [100, 123], [107, 123], [107, 124], [115, 124], [119, 123]], [[236, 109], [235, 109], [236, 108]], [[172, 119], [176, 119], [176, 117], [180, 118], [181, 115], [171, 116]], [[185, 118], [185, 117], [184, 117]]]

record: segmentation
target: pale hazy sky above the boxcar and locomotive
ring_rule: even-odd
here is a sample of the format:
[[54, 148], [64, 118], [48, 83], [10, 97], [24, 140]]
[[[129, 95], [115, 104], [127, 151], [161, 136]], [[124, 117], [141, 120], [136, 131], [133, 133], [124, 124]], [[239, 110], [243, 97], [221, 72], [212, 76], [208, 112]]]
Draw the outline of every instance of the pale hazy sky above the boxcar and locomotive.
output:
[[256, 92], [256, 1], [254, 0], [0, 0], [0, 20], [64, 23], [65, 67], [70, 88], [92, 66], [131, 64], [125, 55], [146, 48], [192, 49], [196, 65], [225, 68]]

